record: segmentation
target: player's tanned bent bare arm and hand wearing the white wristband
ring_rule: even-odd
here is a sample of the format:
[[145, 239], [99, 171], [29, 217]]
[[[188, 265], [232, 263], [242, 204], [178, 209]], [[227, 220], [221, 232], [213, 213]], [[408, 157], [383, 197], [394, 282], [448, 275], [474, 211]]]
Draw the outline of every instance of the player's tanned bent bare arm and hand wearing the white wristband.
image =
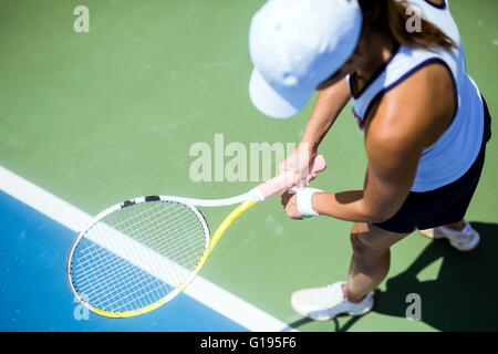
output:
[[[390, 91], [367, 119], [364, 189], [317, 192], [313, 209], [356, 222], [381, 222], [392, 217], [409, 192], [423, 149], [445, 132], [454, 112], [452, 76], [444, 66], [432, 64], [413, 74]], [[289, 217], [301, 218], [295, 195], [283, 194], [282, 204]]]

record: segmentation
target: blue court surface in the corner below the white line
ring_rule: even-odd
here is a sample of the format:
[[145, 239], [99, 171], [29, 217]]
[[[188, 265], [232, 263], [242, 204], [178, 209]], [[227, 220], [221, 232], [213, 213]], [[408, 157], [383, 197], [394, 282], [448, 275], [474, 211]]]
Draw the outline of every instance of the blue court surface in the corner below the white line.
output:
[[0, 191], [0, 331], [248, 331], [186, 294], [152, 313], [106, 319], [74, 300], [74, 232]]

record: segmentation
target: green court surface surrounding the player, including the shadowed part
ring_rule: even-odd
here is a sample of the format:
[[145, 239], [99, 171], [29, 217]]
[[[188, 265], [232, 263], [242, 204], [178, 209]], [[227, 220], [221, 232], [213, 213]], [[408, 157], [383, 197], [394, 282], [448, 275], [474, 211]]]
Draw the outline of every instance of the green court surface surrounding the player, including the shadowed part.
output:
[[[0, 0], [0, 165], [92, 215], [135, 196], [219, 198], [253, 187], [194, 183], [189, 148], [212, 146], [217, 133], [245, 146], [299, 142], [311, 104], [293, 119], [274, 121], [249, 101], [248, 29], [262, 3]], [[89, 33], [73, 30], [80, 4], [90, 9]], [[495, 134], [498, 3], [449, 6]], [[350, 107], [320, 153], [329, 168], [314, 186], [361, 188], [366, 159]], [[459, 253], [413, 233], [393, 247], [391, 272], [365, 316], [317, 323], [293, 312], [294, 290], [345, 280], [351, 223], [292, 221], [278, 198], [237, 220], [201, 274], [300, 331], [496, 331], [497, 162], [494, 136], [466, 217], [481, 244]], [[421, 321], [405, 317], [411, 293], [421, 295]]]

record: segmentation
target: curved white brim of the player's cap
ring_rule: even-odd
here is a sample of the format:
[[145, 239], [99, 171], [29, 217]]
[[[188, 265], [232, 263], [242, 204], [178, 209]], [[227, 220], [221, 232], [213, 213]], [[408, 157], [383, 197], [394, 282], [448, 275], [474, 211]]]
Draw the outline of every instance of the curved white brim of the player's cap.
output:
[[314, 88], [274, 88], [255, 69], [249, 81], [249, 96], [252, 104], [272, 118], [290, 118], [298, 114], [313, 95]]

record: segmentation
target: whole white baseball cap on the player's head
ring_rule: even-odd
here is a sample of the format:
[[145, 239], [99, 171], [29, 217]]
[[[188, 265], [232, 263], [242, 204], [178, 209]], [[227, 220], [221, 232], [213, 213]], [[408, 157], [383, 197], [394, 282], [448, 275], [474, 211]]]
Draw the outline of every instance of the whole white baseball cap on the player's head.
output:
[[351, 56], [361, 29], [357, 0], [266, 2], [249, 30], [255, 106], [274, 118], [295, 115]]

